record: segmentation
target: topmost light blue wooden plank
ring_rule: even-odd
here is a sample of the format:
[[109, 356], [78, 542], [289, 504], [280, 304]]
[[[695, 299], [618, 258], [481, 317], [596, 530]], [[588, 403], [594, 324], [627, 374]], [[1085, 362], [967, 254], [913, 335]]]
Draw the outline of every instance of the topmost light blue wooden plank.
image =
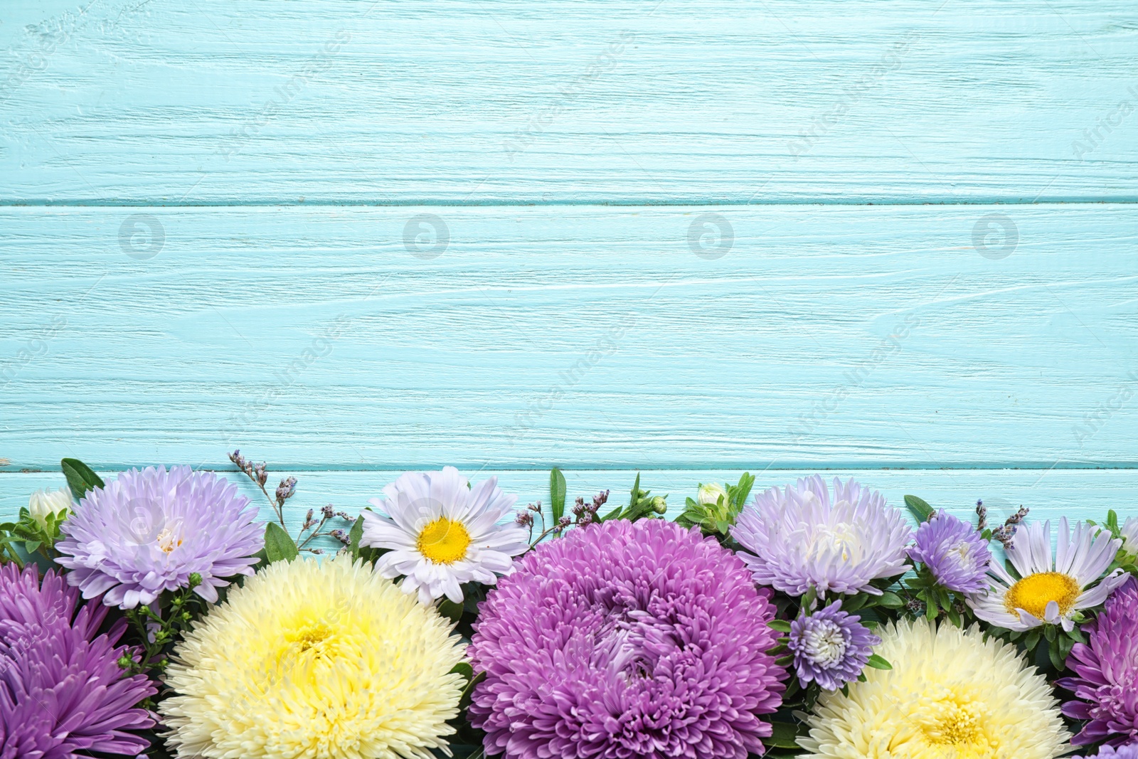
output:
[[15, 0], [0, 203], [1138, 199], [1132, 0]]

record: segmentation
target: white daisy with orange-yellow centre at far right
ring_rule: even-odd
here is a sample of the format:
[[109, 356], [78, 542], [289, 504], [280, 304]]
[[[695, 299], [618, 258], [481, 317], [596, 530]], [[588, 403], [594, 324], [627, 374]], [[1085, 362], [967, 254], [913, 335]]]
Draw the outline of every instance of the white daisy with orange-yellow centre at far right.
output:
[[1103, 603], [1127, 580], [1127, 575], [1115, 569], [1091, 587], [1111, 566], [1121, 544], [1110, 533], [1086, 522], [1078, 522], [1072, 535], [1064, 517], [1053, 561], [1050, 521], [1021, 526], [1007, 548], [1007, 558], [1021, 579], [992, 556], [988, 592], [970, 594], [968, 605], [976, 617], [999, 627], [1022, 632], [1046, 622], [1070, 632], [1075, 612]]

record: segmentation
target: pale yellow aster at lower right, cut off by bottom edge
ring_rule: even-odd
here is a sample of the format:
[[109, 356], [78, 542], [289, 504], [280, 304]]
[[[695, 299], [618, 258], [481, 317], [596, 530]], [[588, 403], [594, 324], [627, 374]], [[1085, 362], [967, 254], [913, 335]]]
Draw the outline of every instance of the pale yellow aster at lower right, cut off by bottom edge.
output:
[[892, 669], [824, 693], [803, 756], [1054, 759], [1069, 733], [1047, 679], [1014, 645], [918, 619], [890, 622], [876, 652]]

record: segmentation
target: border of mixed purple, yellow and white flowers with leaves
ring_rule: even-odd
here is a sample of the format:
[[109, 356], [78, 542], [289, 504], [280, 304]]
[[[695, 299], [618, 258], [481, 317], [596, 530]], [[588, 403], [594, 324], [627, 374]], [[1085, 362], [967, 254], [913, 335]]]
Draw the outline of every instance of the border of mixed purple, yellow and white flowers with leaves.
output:
[[1136, 517], [744, 473], [669, 521], [638, 475], [517, 509], [447, 467], [290, 525], [230, 460], [269, 521], [65, 459], [0, 525], [0, 756], [1138, 759]]

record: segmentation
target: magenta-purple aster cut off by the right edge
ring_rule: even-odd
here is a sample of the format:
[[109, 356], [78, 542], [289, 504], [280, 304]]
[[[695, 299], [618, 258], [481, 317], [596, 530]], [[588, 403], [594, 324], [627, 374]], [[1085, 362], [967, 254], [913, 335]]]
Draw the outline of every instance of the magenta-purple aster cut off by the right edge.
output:
[[1066, 661], [1077, 676], [1056, 680], [1078, 699], [1064, 703], [1063, 713], [1089, 720], [1071, 743], [1138, 741], [1138, 585], [1133, 578], [1114, 592], [1098, 619], [1082, 630], [1087, 643], [1075, 643]]

